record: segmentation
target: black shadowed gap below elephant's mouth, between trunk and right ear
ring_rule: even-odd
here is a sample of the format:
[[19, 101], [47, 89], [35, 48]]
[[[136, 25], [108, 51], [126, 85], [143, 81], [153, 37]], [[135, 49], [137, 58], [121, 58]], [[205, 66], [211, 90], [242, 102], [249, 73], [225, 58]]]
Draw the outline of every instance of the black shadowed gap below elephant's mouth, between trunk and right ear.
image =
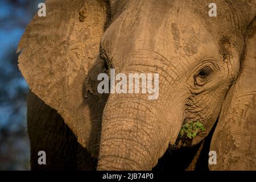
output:
[[[158, 160], [158, 164], [152, 168], [152, 171], [209, 170], [208, 154], [210, 151], [210, 142], [217, 123], [218, 118], [207, 137], [196, 144], [193, 144], [191, 139], [183, 140], [178, 137], [174, 144], [169, 144], [166, 152]], [[181, 141], [184, 142], [183, 145], [179, 144]], [[195, 159], [196, 162], [193, 162]]]

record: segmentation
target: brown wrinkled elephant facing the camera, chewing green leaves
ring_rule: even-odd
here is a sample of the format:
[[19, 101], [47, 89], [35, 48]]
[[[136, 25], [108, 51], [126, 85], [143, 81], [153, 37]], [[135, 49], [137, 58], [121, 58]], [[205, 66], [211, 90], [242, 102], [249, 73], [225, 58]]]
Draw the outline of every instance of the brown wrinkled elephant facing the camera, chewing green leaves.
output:
[[[46, 1], [18, 46], [31, 169], [255, 170], [256, 1], [209, 3]], [[159, 97], [99, 93], [111, 69], [158, 73]]]

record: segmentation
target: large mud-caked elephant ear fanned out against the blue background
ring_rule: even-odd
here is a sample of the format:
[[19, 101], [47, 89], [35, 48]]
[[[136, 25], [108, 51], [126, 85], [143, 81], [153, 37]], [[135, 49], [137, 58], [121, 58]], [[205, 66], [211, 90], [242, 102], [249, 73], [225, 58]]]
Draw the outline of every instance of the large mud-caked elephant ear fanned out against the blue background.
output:
[[91, 84], [100, 72], [95, 64], [107, 21], [105, 0], [49, 0], [46, 17], [35, 15], [18, 47], [19, 69], [32, 92], [58, 111], [93, 156], [104, 98]]

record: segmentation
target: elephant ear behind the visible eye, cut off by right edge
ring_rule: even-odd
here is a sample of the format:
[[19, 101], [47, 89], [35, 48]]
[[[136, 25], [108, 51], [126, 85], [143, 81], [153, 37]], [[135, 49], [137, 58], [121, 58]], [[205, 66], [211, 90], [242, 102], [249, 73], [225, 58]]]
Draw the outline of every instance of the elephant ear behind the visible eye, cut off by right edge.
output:
[[212, 170], [256, 170], [256, 19], [247, 28], [241, 73], [230, 88], [214, 130]]

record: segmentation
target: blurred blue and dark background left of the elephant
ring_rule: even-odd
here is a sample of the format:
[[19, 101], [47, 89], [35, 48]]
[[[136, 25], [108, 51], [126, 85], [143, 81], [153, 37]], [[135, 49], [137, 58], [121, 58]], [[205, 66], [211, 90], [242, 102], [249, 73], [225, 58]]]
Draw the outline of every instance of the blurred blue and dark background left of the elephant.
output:
[[30, 169], [28, 86], [18, 69], [16, 49], [40, 2], [0, 0], [0, 170]]

